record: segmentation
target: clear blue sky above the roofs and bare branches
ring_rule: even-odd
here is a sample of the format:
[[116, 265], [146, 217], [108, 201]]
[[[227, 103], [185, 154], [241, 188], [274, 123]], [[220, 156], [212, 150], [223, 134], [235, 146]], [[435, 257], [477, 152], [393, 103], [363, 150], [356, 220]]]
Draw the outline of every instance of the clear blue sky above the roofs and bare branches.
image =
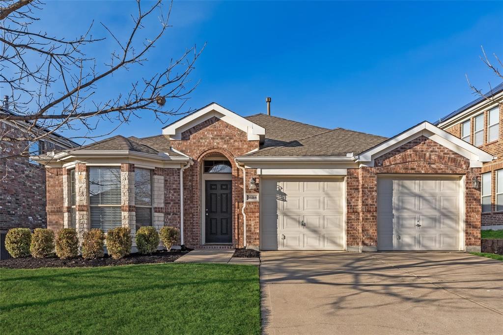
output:
[[[69, 37], [94, 19], [121, 34], [132, 24], [134, 6], [47, 1], [38, 24]], [[108, 80], [99, 97], [127, 90], [131, 78], [205, 42], [191, 76], [200, 84], [188, 107], [217, 102], [246, 116], [265, 112], [270, 96], [275, 116], [384, 136], [473, 100], [465, 74], [484, 89], [499, 83], [479, 55], [483, 45], [503, 58], [500, 2], [179, 1], [172, 15], [173, 28], [150, 62]], [[97, 25], [95, 35], [106, 33]], [[113, 47], [108, 39], [93, 51], [105, 58]], [[144, 116], [114, 134], [156, 135], [162, 126]], [[101, 123], [97, 131], [108, 129]]]

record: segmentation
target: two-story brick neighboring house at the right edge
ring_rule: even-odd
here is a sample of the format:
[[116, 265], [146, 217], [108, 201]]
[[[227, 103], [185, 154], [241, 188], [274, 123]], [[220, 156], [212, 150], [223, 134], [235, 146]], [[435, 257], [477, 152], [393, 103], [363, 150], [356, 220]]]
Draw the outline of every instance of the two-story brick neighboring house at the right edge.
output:
[[503, 83], [441, 118], [436, 125], [490, 153], [481, 171], [482, 229], [503, 229]]

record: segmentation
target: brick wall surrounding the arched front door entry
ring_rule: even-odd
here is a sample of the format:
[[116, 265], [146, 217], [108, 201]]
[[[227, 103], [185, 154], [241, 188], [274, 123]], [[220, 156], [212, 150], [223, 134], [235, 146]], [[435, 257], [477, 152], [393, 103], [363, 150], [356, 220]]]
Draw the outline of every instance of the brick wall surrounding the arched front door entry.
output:
[[[171, 145], [194, 159], [194, 165], [184, 171], [185, 244], [188, 246], [199, 246], [202, 243], [202, 162], [205, 157], [219, 154], [225, 156], [232, 165], [233, 245], [242, 245], [242, 175], [240, 175], [241, 172], [234, 162], [234, 157], [258, 148], [259, 141], [248, 141], [245, 132], [216, 117], [212, 117], [186, 130], [182, 133], [181, 138], [181, 140], [172, 140]], [[249, 180], [248, 175], [246, 178]], [[251, 238], [256, 243], [256, 239], [258, 239], [258, 210], [254, 209], [254, 206], [258, 205], [250, 205], [247, 209], [247, 211], [250, 211], [250, 218], [247, 217], [246, 222], [252, 236]], [[255, 213], [256, 211], [257, 213]], [[251, 229], [254, 230], [251, 231]]]

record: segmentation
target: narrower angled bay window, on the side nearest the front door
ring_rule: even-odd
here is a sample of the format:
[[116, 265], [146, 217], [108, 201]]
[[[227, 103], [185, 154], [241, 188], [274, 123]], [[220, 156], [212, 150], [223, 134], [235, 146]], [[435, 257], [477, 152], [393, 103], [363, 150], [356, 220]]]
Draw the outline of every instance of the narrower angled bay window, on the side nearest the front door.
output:
[[134, 204], [136, 230], [152, 225], [152, 173], [147, 169], [134, 170]]

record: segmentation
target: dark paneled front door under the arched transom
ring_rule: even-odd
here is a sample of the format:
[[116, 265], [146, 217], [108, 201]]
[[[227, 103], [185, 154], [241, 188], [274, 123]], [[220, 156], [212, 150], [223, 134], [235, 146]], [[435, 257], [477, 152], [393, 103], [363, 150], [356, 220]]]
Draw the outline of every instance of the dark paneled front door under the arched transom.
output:
[[232, 242], [232, 182], [206, 181], [206, 243]]

